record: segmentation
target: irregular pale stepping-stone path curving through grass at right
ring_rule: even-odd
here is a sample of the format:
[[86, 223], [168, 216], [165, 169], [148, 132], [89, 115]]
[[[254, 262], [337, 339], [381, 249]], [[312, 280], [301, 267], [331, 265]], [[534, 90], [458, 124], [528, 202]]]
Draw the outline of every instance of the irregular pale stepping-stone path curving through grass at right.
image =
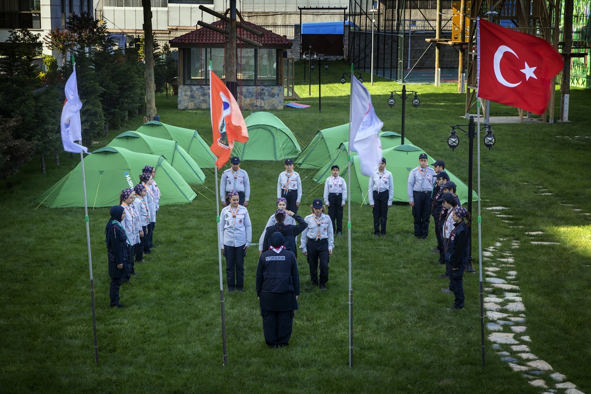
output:
[[[541, 188], [541, 187], [540, 187]], [[551, 194], [541, 191], [539, 194]], [[563, 204], [567, 205], [567, 204]], [[488, 207], [503, 222], [513, 223], [506, 207]], [[574, 209], [576, 211], [576, 209]], [[505, 220], [508, 219], [508, 220]], [[522, 226], [510, 226], [522, 227]], [[525, 233], [534, 245], [559, 245], [548, 240], [544, 232]], [[530, 385], [540, 388], [543, 394], [584, 394], [567, 377], [531, 353], [530, 336], [527, 335], [525, 305], [519, 289], [518, 272], [515, 269], [513, 251], [519, 248], [519, 240], [501, 238], [495, 245], [484, 248], [483, 281], [484, 308], [488, 323], [488, 339], [492, 348], [515, 372], [521, 373]]]

